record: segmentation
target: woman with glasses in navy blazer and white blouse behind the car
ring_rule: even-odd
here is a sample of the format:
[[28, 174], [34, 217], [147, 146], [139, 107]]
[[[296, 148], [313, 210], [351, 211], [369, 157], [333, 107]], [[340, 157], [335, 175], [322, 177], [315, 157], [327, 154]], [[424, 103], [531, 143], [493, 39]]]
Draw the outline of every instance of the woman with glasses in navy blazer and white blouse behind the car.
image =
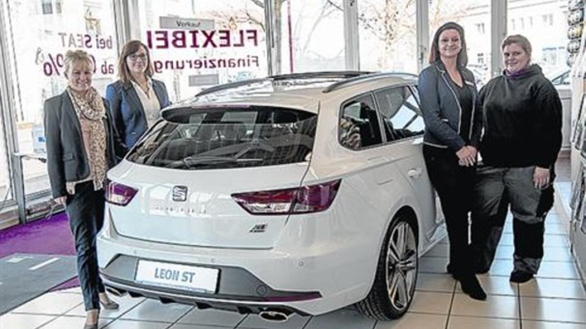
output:
[[118, 59], [120, 80], [106, 88], [114, 126], [128, 149], [159, 118], [159, 111], [171, 104], [165, 84], [151, 78], [153, 72], [147, 46], [131, 40]]

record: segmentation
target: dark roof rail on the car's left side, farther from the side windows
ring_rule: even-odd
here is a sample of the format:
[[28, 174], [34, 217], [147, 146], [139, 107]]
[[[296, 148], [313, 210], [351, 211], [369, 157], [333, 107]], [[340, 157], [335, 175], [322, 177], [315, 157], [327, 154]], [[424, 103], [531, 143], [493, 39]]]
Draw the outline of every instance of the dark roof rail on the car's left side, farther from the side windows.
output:
[[290, 73], [290, 74], [278, 74], [276, 76], [270, 76], [265, 78], [254, 78], [250, 80], [236, 81], [233, 83], [214, 85], [213, 87], [207, 88], [198, 92], [195, 97], [200, 97], [213, 92], [221, 90], [229, 90], [233, 88], [243, 87], [244, 85], [273, 82], [273, 81], [284, 81], [284, 80], [301, 80], [301, 79], [314, 79], [314, 78], [353, 78], [359, 77], [366, 74], [372, 74], [369, 71], [317, 71], [317, 72], [304, 72], [304, 73]]

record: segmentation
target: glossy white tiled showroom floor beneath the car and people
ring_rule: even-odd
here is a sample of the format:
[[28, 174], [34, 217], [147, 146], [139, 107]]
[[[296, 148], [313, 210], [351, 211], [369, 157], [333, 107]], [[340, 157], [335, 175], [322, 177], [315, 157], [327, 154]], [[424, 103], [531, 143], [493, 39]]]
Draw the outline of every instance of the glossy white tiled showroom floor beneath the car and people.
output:
[[[448, 250], [444, 242], [421, 258], [410, 312], [396, 321], [374, 321], [347, 307], [322, 316], [292, 316], [286, 323], [270, 323], [254, 315], [114, 297], [120, 310], [104, 310], [100, 325], [107, 329], [586, 329], [586, 292], [568, 250], [564, 217], [556, 212], [561, 209], [558, 204], [548, 215], [539, 275], [522, 285], [508, 280], [513, 253], [509, 218], [492, 269], [479, 276], [488, 293], [486, 301], [462, 294], [444, 273]], [[0, 328], [79, 329], [84, 323], [81, 301], [79, 288], [47, 293], [1, 316]]]

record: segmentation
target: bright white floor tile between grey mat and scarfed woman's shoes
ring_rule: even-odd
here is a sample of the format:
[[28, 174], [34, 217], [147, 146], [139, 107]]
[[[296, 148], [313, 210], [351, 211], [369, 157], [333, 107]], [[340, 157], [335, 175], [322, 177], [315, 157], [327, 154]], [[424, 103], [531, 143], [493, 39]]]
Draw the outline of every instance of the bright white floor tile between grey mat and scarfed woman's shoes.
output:
[[46, 293], [16, 307], [12, 313], [35, 313], [61, 315], [83, 303], [80, 294]]

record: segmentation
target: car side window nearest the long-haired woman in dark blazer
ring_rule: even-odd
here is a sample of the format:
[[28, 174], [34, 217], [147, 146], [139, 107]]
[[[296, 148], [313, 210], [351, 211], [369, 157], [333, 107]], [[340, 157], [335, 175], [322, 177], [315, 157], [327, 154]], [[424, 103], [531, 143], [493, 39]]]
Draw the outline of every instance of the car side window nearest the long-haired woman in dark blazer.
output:
[[423, 134], [423, 116], [410, 88], [393, 87], [376, 92], [374, 97], [389, 142]]

